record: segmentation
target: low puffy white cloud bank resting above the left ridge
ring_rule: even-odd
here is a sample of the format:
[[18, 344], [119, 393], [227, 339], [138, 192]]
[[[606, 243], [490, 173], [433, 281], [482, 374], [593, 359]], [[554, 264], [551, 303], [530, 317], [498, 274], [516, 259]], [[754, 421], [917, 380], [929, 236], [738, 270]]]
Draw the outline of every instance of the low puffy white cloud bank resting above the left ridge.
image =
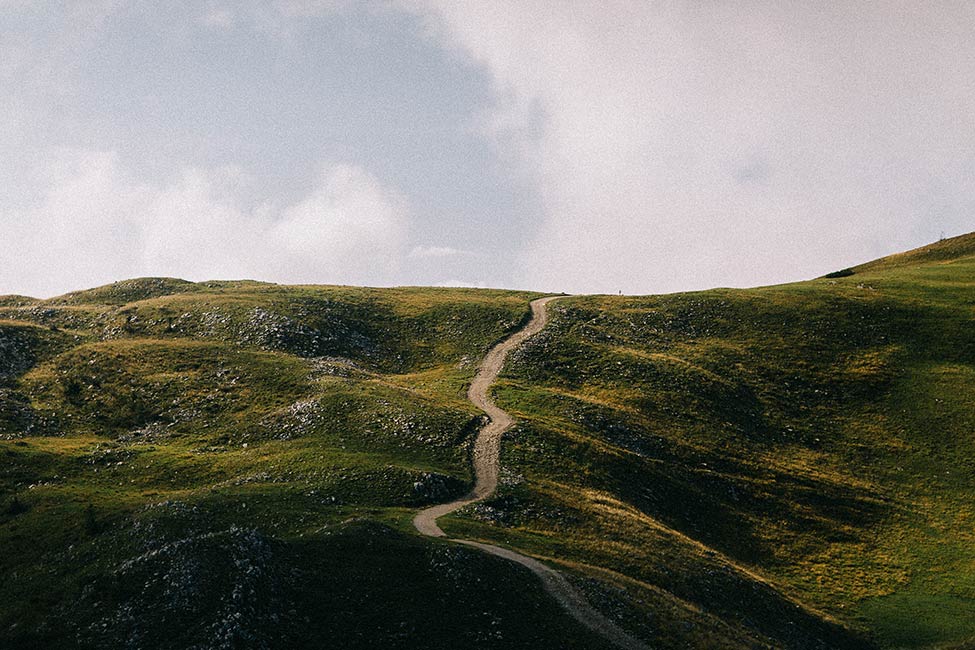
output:
[[364, 169], [326, 168], [294, 205], [245, 209], [233, 169], [134, 182], [111, 152], [62, 151], [37, 200], [0, 211], [0, 293], [49, 296], [119, 278], [395, 284], [405, 201]]

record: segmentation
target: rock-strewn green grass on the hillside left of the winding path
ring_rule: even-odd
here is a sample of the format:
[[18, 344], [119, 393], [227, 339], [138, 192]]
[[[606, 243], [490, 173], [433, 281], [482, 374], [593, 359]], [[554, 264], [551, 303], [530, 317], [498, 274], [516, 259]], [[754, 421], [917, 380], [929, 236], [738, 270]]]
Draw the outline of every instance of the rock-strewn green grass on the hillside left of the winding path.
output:
[[[491, 597], [515, 609], [485, 615], [477, 572], [442, 584], [431, 558], [456, 551], [405, 532], [412, 508], [467, 489], [479, 420], [464, 387], [530, 297], [146, 279], [5, 299], [2, 645], [407, 647], [400, 622], [426, 612], [410, 629], [432, 633], [436, 604], [457, 623], [430, 647], [485, 635], [501, 647], [561, 647], [557, 630], [576, 624], [530, 576], [461, 552], [525, 594], [492, 583]], [[352, 567], [374, 538], [381, 548]], [[276, 559], [247, 565], [264, 554]], [[266, 598], [234, 600], [250, 588], [248, 567]], [[203, 593], [201, 580], [212, 583]], [[358, 610], [323, 618], [323, 598], [375, 604], [411, 582], [432, 600], [404, 600], [395, 625], [389, 609], [389, 629], [361, 617], [347, 625]], [[288, 631], [269, 641], [272, 616]], [[553, 622], [539, 628], [531, 616]], [[577, 632], [578, 647], [598, 647]]]

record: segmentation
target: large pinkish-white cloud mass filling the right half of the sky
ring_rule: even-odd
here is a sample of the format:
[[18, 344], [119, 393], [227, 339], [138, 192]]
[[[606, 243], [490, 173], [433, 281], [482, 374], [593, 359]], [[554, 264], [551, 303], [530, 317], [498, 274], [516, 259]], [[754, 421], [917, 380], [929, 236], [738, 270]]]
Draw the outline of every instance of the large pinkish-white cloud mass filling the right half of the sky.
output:
[[972, 229], [964, 2], [419, 0], [544, 205], [519, 283], [750, 285]]

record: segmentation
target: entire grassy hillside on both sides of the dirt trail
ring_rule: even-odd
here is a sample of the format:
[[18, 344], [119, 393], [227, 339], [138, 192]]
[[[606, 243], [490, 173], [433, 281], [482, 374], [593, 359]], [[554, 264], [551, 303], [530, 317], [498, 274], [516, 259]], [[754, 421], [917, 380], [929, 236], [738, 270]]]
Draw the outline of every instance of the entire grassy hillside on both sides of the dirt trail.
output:
[[[441, 525], [658, 648], [971, 643], [975, 235], [847, 271], [553, 303], [502, 487]], [[0, 298], [0, 646], [605, 647], [409, 525], [469, 486], [466, 383], [534, 295]]]

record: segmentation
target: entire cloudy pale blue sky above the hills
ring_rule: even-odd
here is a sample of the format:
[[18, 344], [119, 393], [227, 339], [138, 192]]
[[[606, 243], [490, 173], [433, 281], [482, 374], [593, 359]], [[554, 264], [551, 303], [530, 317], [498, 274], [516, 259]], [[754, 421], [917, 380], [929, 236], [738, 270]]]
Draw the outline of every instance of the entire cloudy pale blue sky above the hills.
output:
[[967, 0], [0, 0], [0, 295], [650, 294], [975, 230]]

